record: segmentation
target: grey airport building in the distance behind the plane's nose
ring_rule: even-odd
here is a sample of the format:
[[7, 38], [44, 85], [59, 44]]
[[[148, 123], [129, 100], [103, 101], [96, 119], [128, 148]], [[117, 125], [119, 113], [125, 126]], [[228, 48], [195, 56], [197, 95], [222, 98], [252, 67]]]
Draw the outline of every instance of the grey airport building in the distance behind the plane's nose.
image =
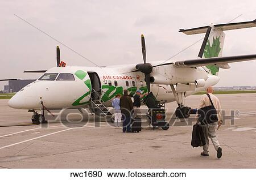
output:
[[18, 92], [20, 89], [26, 85], [34, 82], [36, 79], [18, 79], [18, 80], [9, 80], [8, 92]]

